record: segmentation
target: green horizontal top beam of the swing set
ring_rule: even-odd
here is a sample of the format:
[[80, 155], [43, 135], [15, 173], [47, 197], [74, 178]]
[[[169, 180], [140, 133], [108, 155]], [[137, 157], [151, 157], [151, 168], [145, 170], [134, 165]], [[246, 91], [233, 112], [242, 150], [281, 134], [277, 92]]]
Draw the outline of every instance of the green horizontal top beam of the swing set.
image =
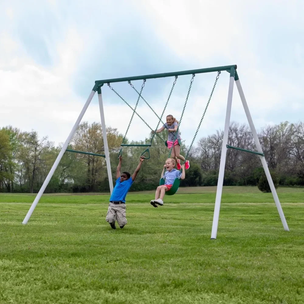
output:
[[218, 72], [218, 71], [226, 71], [226, 70], [230, 71], [230, 69], [232, 67], [234, 67], [234, 69], [237, 69], [237, 65], [234, 64], [234, 65], [226, 65], [223, 67], [208, 67], [205, 69], [198, 69], [198, 70], [188, 70], [188, 71], [171, 72], [171, 73], [150, 74], [150, 75], [143, 75], [143, 76], [96, 80], [94, 88], [96, 88], [96, 90], [97, 90], [97, 88], [102, 86], [104, 83], [133, 81], [133, 80], [151, 79], [151, 78], [162, 78], [162, 77], [180, 76], [180, 75], [188, 75], [188, 74], [210, 73], [210, 72]]

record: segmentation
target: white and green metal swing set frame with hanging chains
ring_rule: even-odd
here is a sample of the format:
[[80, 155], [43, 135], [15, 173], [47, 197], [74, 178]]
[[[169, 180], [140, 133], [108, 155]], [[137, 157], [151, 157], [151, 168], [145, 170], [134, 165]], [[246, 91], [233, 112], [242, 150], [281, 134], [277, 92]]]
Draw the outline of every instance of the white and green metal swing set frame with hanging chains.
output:
[[[109, 157], [109, 147], [108, 147], [108, 142], [107, 142], [107, 134], [106, 134], [106, 126], [105, 126], [105, 116], [104, 116], [104, 109], [103, 109], [103, 102], [102, 102], [102, 92], [101, 92], [101, 88], [102, 88], [102, 86], [104, 84], [107, 84], [109, 86], [109, 88], [113, 92], [115, 92], [133, 110], [133, 114], [132, 114], [130, 123], [131, 123], [131, 121], [133, 119], [134, 114], [136, 114], [137, 116], [139, 116], [143, 120], [143, 122], [150, 128], [151, 131], [156, 131], [157, 128], [158, 128], [158, 125], [162, 122], [162, 117], [164, 115], [164, 111], [165, 111], [165, 109], [166, 109], [166, 107], [168, 105], [168, 102], [169, 102], [172, 90], [174, 88], [174, 85], [176, 83], [176, 80], [177, 80], [178, 76], [192, 74], [192, 79], [191, 79], [191, 82], [190, 82], [190, 87], [189, 87], [189, 90], [188, 90], [188, 95], [187, 95], [186, 102], [185, 102], [185, 105], [184, 105], [184, 108], [183, 108], [183, 112], [182, 112], [182, 115], [183, 115], [183, 113], [185, 111], [186, 104], [187, 104], [188, 96], [189, 96], [189, 93], [190, 93], [192, 81], [193, 81], [193, 78], [194, 78], [195, 74], [217, 72], [218, 73], [217, 77], [216, 77], [216, 82], [217, 82], [217, 79], [219, 78], [219, 74], [222, 71], [227, 71], [230, 74], [230, 80], [229, 80], [229, 89], [228, 89], [228, 98], [227, 98], [227, 107], [226, 107], [226, 119], [225, 119], [225, 126], [224, 126], [222, 153], [221, 153], [221, 159], [220, 159], [220, 165], [219, 165], [219, 178], [218, 178], [218, 183], [217, 183], [215, 207], [214, 207], [213, 222], [212, 222], [211, 239], [216, 239], [216, 236], [217, 236], [218, 222], [219, 222], [219, 210], [220, 210], [220, 203], [221, 203], [222, 190], [223, 190], [223, 180], [224, 180], [224, 171], [225, 171], [227, 149], [236, 149], [236, 150], [244, 151], [244, 152], [247, 152], [247, 153], [256, 154], [256, 155], [258, 155], [260, 157], [261, 162], [262, 162], [262, 166], [264, 168], [264, 171], [265, 171], [265, 174], [266, 174], [266, 177], [267, 177], [267, 180], [268, 180], [268, 183], [270, 185], [271, 193], [273, 195], [276, 207], [278, 209], [279, 216], [281, 218], [281, 221], [282, 221], [282, 224], [283, 224], [283, 227], [284, 227], [284, 230], [289, 231], [289, 228], [288, 228], [288, 225], [287, 225], [287, 222], [286, 222], [286, 219], [285, 219], [285, 216], [284, 216], [284, 213], [283, 213], [280, 201], [278, 199], [277, 192], [275, 190], [275, 186], [273, 184], [273, 181], [272, 181], [272, 178], [271, 178], [271, 175], [270, 175], [270, 172], [269, 172], [269, 169], [268, 169], [265, 157], [264, 157], [264, 153], [263, 153], [260, 141], [259, 141], [258, 136], [257, 136], [256, 129], [254, 127], [253, 120], [252, 120], [250, 112], [249, 112], [249, 108], [248, 108], [248, 105], [247, 105], [247, 102], [246, 102], [246, 98], [245, 98], [243, 89], [242, 89], [241, 84], [240, 84], [240, 79], [239, 79], [239, 76], [237, 74], [237, 66], [236, 65], [228, 65], [228, 66], [222, 66], [222, 67], [210, 67], [210, 68], [197, 69], [197, 70], [188, 70], [188, 71], [161, 73], [161, 74], [151, 74], [151, 75], [124, 77], [124, 78], [104, 79], [104, 80], [97, 80], [97, 81], [95, 81], [95, 85], [94, 85], [94, 87], [92, 89], [91, 94], [89, 95], [87, 101], [85, 102], [85, 105], [84, 105], [83, 109], [81, 110], [81, 113], [79, 114], [78, 119], [76, 120], [76, 122], [75, 122], [75, 124], [74, 124], [74, 126], [73, 126], [73, 128], [71, 130], [71, 132], [69, 133], [66, 141], [64, 142], [64, 144], [63, 144], [63, 146], [62, 146], [62, 148], [60, 150], [60, 153], [58, 154], [58, 156], [57, 156], [57, 158], [56, 158], [56, 160], [55, 160], [52, 168], [50, 169], [50, 172], [47, 175], [47, 178], [45, 179], [45, 181], [43, 182], [43, 185], [41, 186], [39, 192], [37, 193], [36, 198], [33, 201], [33, 203], [31, 205], [29, 211], [27, 212], [27, 214], [26, 214], [26, 216], [25, 216], [22, 224], [27, 224], [27, 222], [29, 221], [29, 218], [31, 217], [34, 209], [36, 208], [36, 205], [38, 204], [38, 202], [39, 202], [39, 200], [40, 200], [40, 198], [41, 198], [41, 196], [42, 196], [45, 188], [47, 187], [47, 185], [48, 185], [51, 177], [54, 174], [54, 171], [56, 170], [56, 168], [57, 168], [57, 166], [58, 166], [58, 164], [59, 164], [62, 156], [64, 155], [64, 153], [66, 151], [105, 157], [106, 166], [107, 166], [107, 172], [108, 172], [108, 177], [109, 177], [110, 192], [112, 194], [112, 191], [113, 191], [113, 181], [112, 181], [111, 164], [110, 164], [110, 157]], [[141, 95], [141, 93], [143, 91], [143, 87], [144, 87], [144, 84], [145, 84], [145, 82], [146, 82], [147, 79], [164, 78], [164, 77], [175, 77], [175, 79], [174, 79], [173, 86], [171, 88], [170, 95], [169, 95], [168, 100], [167, 100], [167, 102], [165, 104], [164, 110], [163, 110], [161, 116], [158, 116], [154, 112], [154, 110], [150, 107], [150, 105], [146, 102], [146, 100], [143, 98], [143, 96]], [[134, 86], [132, 85], [131, 81], [133, 81], [133, 80], [143, 80], [143, 84], [142, 84], [140, 92], [138, 92], [136, 90], [136, 88], [134, 88]], [[123, 82], [123, 81], [128, 81], [128, 83], [131, 85], [131, 87], [138, 93], [138, 99], [137, 99], [137, 102], [136, 102], [136, 105], [135, 105], [134, 109], [110, 85], [111, 83]], [[202, 120], [204, 118], [204, 115], [206, 113], [206, 110], [207, 110], [207, 107], [209, 105], [210, 99], [212, 97], [212, 93], [214, 91], [216, 82], [215, 82], [215, 84], [213, 86], [210, 98], [209, 98], [209, 100], [207, 102], [206, 109], [205, 109], [205, 111], [203, 113], [203, 116], [202, 116], [202, 119], [201, 119], [201, 121], [199, 123], [199, 127], [200, 127], [200, 125], [202, 123]], [[232, 146], [228, 145], [228, 132], [229, 132], [229, 124], [230, 124], [230, 113], [231, 113], [231, 104], [232, 104], [232, 95], [233, 95], [233, 85], [234, 85], [234, 82], [236, 83], [236, 86], [237, 86], [237, 89], [238, 89], [238, 92], [239, 92], [239, 95], [240, 95], [240, 99], [241, 99], [241, 102], [243, 104], [244, 111], [245, 111], [245, 114], [247, 116], [247, 120], [248, 120], [250, 129], [251, 129], [251, 132], [252, 132], [253, 137], [254, 137], [254, 142], [255, 142], [257, 151], [245, 150], [245, 149], [242, 149], [242, 148], [239, 148], [239, 147], [232, 147]], [[82, 151], [76, 151], [76, 150], [67, 149], [68, 145], [69, 145], [69, 142], [72, 139], [72, 136], [74, 135], [74, 133], [75, 133], [75, 131], [76, 131], [76, 129], [77, 129], [77, 127], [78, 127], [78, 125], [79, 125], [82, 117], [85, 114], [85, 111], [88, 108], [88, 105], [90, 104], [92, 98], [95, 95], [95, 92], [98, 93], [98, 102], [99, 102], [99, 110], [100, 110], [100, 118], [101, 118], [101, 125], [102, 125], [102, 136], [103, 136], [103, 140], [104, 140], [105, 154], [95, 154], [95, 153], [89, 153], [89, 152], [82, 152]], [[159, 119], [156, 129], [152, 129], [144, 121], [144, 119], [136, 112], [136, 107], [138, 105], [138, 102], [139, 102], [140, 98], [142, 98], [147, 103], [147, 105], [149, 105], [150, 109], [155, 113], [155, 115]], [[181, 115], [181, 119], [182, 119], [182, 115]], [[149, 149], [151, 147], [154, 135], [156, 133], [153, 132], [153, 135], [151, 136], [151, 140], [150, 140], [149, 144], [144, 144], [144, 145], [143, 144], [142, 145], [124, 144], [124, 140], [126, 138], [128, 130], [129, 130], [130, 123], [129, 123], [127, 131], [125, 133], [125, 136], [123, 138], [123, 142], [121, 144], [121, 149], [120, 149], [119, 155], [121, 155], [121, 153], [122, 153], [122, 147], [126, 147], [126, 146], [144, 146], [144, 147], [147, 147], [147, 149], [142, 153], [142, 155], [144, 156], [146, 153], [148, 153], [148, 157], [145, 157], [145, 158], [149, 159], [150, 158]], [[181, 123], [181, 120], [180, 120], [180, 122], [178, 124], [178, 128], [180, 126], [180, 123]], [[199, 127], [196, 130], [195, 136], [196, 136], [196, 134], [197, 134], [197, 132], [199, 130]], [[175, 133], [174, 140], [176, 139], [177, 132], [178, 132], [178, 130]], [[191, 143], [191, 145], [189, 147], [189, 150], [188, 150], [188, 153], [187, 153], [185, 159], [187, 159], [187, 157], [188, 157], [190, 149], [191, 149], [191, 147], [193, 145], [193, 142], [195, 140], [195, 136], [194, 136], [194, 138], [192, 140], [192, 143]], [[173, 145], [171, 147], [171, 150], [170, 150], [170, 153], [169, 153], [169, 157], [171, 155], [172, 148], [173, 148]]]

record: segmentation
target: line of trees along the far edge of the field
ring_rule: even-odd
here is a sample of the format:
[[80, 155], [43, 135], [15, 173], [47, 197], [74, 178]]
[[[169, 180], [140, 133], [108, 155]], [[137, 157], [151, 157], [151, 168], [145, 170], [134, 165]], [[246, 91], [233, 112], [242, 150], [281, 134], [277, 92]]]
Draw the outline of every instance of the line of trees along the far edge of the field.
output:
[[[165, 132], [154, 137], [150, 159], [145, 161], [131, 190], [151, 190], [159, 183], [168, 148], [164, 145]], [[269, 169], [275, 172], [279, 185], [304, 185], [304, 123], [283, 122], [265, 126], [258, 133]], [[112, 176], [115, 181], [117, 156], [123, 135], [107, 128]], [[149, 143], [149, 138], [136, 142]], [[190, 169], [181, 186], [216, 186], [222, 149], [223, 131], [202, 137], [192, 147], [188, 159]], [[125, 143], [134, 143], [125, 141]], [[228, 144], [256, 150], [249, 126], [231, 123]], [[23, 132], [12, 126], [0, 129], [0, 192], [38, 192], [61, 147], [36, 131]], [[99, 123], [81, 123], [68, 149], [105, 154], [102, 128]], [[135, 170], [145, 147], [123, 148], [123, 171]], [[181, 153], [188, 147], [182, 143]], [[257, 155], [228, 149], [224, 185], [256, 186], [263, 168]], [[54, 192], [109, 192], [105, 158], [65, 152], [46, 193]]]

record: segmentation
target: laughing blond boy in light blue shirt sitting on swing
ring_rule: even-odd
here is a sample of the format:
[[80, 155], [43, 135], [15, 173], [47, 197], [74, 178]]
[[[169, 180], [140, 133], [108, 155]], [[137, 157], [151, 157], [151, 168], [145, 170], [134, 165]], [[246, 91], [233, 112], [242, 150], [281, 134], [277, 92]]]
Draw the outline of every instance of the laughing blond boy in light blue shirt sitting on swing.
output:
[[[164, 164], [163, 172], [161, 172], [161, 178], [165, 179], [165, 184], [157, 187], [155, 192], [155, 199], [152, 199], [150, 202], [153, 207], [157, 207], [157, 205], [164, 205], [163, 198], [165, 192], [170, 190], [175, 178], [185, 179], [185, 164], [181, 165], [182, 172], [176, 170], [174, 167], [175, 160], [173, 158], [168, 158]], [[167, 171], [164, 174], [165, 168]]]

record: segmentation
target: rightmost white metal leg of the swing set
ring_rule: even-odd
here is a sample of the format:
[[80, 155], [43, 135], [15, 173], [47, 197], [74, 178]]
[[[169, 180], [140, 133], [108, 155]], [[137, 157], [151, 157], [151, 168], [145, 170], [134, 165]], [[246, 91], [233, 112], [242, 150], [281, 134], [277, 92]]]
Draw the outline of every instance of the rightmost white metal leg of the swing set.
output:
[[[240, 84], [240, 80], [239, 79], [236, 80], [235, 83], [237, 85], [237, 89], [239, 91], [240, 98], [241, 98], [241, 101], [242, 101], [243, 106], [244, 106], [244, 110], [245, 110], [245, 113], [246, 113], [246, 116], [247, 116], [247, 119], [248, 119], [248, 123], [249, 123], [251, 132], [252, 132], [253, 137], [254, 137], [254, 142], [255, 142], [255, 145], [257, 147], [257, 151], [260, 152], [260, 153], [263, 153], [263, 150], [262, 150], [262, 147], [261, 147], [261, 143], [260, 143], [259, 138], [257, 136], [257, 131], [255, 130], [255, 127], [254, 127], [254, 124], [253, 124], [253, 121], [252, 121], [252, 118], [251, 118], [251, 115], [250, 115], [250, 112], [249, 112], [249, 108], [248, 108], [248, 105], [247, 105], [247, 102], [246, 102], [246, 98], [245, 98], [242, 86]], [[280, 215], [283, 227], [284, 227], [284, 229], [286, 231], [289, 231], [289, 228], [288, 228], [288, 225], [287, 225], [287, 222], [286, 222], [286, 219], [285, 219], [285, 216], [284, 216], [284, 213], [283, 213], [283, 210], [282, 210], [282, 207], [281, 207], [281, 204], [280, 204], [277, 192], [275, 190], [275, 186], [273, 184], [273, 181], [272, 181], [272, 178], [271, 178], [271, 175], [270, 175], [270, 172], [269, 172], [269, 169], [268, 169], [265, 157], [264, 156], [260, 156], [260, 159], [262, 161], [262, 165], [263, 165], [263, 168], [264, 168], [264, 171], [265, 171], [265, 174], [266, 174], [266, 177], [267, 177], [270, 189], [271, 189], [272, 196], [273, 196], [273, 198], [275, 200], [275, 205], [277, 206], [277, 209], [278, 209], [278, 212], [279, 212], [279, 215]]]

